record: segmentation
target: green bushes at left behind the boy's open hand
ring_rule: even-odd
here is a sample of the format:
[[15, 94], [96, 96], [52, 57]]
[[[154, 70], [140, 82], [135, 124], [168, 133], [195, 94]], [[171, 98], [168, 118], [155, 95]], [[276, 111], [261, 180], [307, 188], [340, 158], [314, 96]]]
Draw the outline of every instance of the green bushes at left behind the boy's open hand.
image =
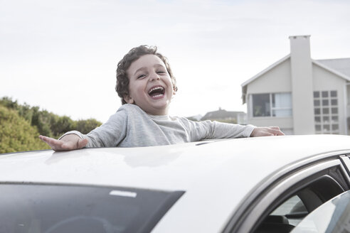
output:
[[39, 134], [58, 139], [66, 131], [88, 134], [102, 124], [95, 119], [73, 121], [9, 97], [0, 99], [0, 107], [0, 153], [50, 148], [38, 139]]

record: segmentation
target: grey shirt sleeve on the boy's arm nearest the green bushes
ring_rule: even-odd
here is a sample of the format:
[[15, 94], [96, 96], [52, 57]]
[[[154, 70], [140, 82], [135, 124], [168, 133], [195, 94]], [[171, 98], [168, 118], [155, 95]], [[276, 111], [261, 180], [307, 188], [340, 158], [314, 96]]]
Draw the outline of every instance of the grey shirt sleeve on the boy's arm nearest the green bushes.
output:
[[[124, 108], [110, 116], [110, 119], [100, 127], [93, 129], [88, 134], [82, 134], [79, 131], [68, 131], [63, 136], [68, 134], [78, 135], [81, 139], [88, 139], [86, 148], [91, 147], [115, 147], [122, 139], [125, 138], [127, 132], [127, 112]], [[63, 137], [61, 136], [60, 139]]]

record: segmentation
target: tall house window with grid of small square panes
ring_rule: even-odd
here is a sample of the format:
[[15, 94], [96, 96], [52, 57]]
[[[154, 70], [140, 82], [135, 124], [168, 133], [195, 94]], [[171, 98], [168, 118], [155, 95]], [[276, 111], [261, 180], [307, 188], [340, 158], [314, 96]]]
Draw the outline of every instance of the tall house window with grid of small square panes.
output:
[[336, 91], [314, 92], [314, 123], [316, 134], [339, 134]]

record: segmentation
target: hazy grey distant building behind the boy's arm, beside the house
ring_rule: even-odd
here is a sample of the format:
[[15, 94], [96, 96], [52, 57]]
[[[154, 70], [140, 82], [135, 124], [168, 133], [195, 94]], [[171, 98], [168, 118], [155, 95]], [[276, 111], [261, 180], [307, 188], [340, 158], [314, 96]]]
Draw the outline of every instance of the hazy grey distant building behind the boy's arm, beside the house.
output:
[[217, 111], [207, 112], [201, 118], [201, 121], [216, 120], [216, 121], [224, 121], [224, 122], [230, 122], [230, 123], [238, 123], [238, 121], [240, 121], [240, 124], [243, 124], [244, 119], [245, 119], [245, 112], [229, 112], [219, 108]]

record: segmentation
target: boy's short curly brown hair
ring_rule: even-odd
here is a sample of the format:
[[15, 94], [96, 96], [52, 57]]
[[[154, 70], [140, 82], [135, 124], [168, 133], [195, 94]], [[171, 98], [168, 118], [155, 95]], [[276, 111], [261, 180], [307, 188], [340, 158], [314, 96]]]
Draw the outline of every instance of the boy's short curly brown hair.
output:
[[139, 59], [142, 55], [148, 54], [157, 55], [157, 57], [163, 61], [166, 70], [171, 77], [174, 92], [177, 91], [176, 78], [174, 77], [173, 72], [171, 72], [167, 58], [160, 53], [157, 53], [157, 46], [139, 45], [138, 47], [129, 50], [129, 53], [124, 55], [124, 58], [122, 58], [117, 65], [117, 85], [115, 85], [115, 90], [117, 91], [118, 96], [122, 99], [122, 104], [127, 104], [124, 97], [129, 95], [129, 77], [127, 77], [127, 69], [129, 69], [130, 65], [135, 60]]

